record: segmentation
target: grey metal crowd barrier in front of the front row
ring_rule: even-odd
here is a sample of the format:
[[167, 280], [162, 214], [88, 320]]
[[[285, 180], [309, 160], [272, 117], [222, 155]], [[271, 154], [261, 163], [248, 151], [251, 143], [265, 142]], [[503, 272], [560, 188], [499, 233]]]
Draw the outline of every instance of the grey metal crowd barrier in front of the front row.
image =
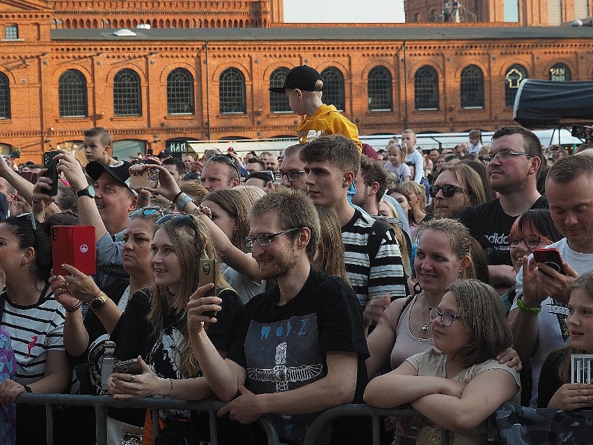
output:
[[[152, 411], [152, 431], [153, 434], [159, 431], [158, 428], [158, 410], [159, 409], [185, 409], [192, 411], [205, 411], [209, 414], [210, 421], [210, 437], [212, 445], [218, 445], [216, 432], [216, 412], [221, 409], [226, 403], [217, 400], [200, 400], [197, 402], [188, 402], [187, 400], [176, 400], [171, 398], [135, 398], [131, 400], [116, 400], [111, 396], [73, 396], [70, 394], [41, 394], [41, 393], [22, 393], [17, 397], [17, 403], [26, 403], [28, 405], [45, 405], [46, 419], [47, 419], [47, 445], [54, 445], [54, 427], [53, 427], [53, 412], [52, 406], [93, 406], [95, 407], [95, 428], [97, 435], [97, 445], [107, 445], [106, 439], [106, 409], [107, 407], [128, 407], [128, 408], [145, 408]], [[372, 440], [373, 445], [379, 445], [379, 428], [380, 417], [401, 416], [411, 417], [417, 416], [418, 412], [414, 409], [379, 409], [370, 407], [369, 405], [340, 405], [326, 409], [317, 416], [315, 421], [311, 424], [308, 433], [305, 437], [304, 445], [314, 445], [317, 435], [322, 430], [326, 423], [338, 417], [344, 416], [371, 416], [372, 417]], [[0, 416], [0, 431], [1, 428]], [[268, 437], [268, 445], [279, 445], [278, 432], [274, 426], [265, 419], [260, 417], [258, 423], [262, 430]], [[448, 432], [443, 430], [443, 437], [441, 437], [441, 444], [448, 444]], [[59, 445], [59, 444], [56, 444]]]

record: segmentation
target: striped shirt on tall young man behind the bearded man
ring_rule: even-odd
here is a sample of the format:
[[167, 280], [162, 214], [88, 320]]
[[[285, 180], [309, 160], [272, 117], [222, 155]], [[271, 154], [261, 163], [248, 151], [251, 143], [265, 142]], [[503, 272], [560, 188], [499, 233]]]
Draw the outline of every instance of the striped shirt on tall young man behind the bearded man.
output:
[[387, 231], [380, 243], [374, 243], [379, 251], [370, 258], [369, 239], [382, 233], [375, 231], [377, 226], [372, 227], [374, 222], [369, 214], [355, 209], [352, 219], [342, 227], [346, 274], [363, 308], [370, 298], [406, 296], [402, 254], [393, 231]]

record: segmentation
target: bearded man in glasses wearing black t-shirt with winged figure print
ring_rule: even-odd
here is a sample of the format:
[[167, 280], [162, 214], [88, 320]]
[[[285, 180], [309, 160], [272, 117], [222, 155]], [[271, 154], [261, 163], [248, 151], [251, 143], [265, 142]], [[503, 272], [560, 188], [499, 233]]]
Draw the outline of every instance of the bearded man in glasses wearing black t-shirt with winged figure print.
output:
[[[219, 416], [252, 423], [267, 416], [280, 435], [301, 444], [317, 413], [361, 400], [368, 350], [361, 311], [342, 279], [313, 270], [319, 240], [313, 203], [285, 187], [261, 198], [251, 209], [251, 232], [262, 279], [278, 286], [245, 306], [226, 359], [209, 340], [205, 311], [220, 310], [218, 297], [188, 304], [188, 329], [200, 368], [221, 400]], [[238, 380], [238, 384], [237, 384]], [[234, 400], [233, 400], [234, 399]], [[347, 428], [324, 428], [318, 443], [354, 443]]]

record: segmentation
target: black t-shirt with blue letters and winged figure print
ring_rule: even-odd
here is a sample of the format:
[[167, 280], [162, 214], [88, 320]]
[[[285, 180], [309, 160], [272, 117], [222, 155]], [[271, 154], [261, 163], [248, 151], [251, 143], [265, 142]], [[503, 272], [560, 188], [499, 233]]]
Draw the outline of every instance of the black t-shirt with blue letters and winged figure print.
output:
[[[358, 354], [355, 403], [361, 403], [369, 357], [361, 309], [347, 283], [311, 269], [301, 291], [278, 306], [276, 286], [253, 297], [241, 316], [227, 358], [247, 370], [246, 387], [256, 394], [290, 391], [327, 375], [326, 353]], [[267, 414], [280, 437], [303, 442], [316, 414]], [[319, 435], [329, 440], [330, 430]]]

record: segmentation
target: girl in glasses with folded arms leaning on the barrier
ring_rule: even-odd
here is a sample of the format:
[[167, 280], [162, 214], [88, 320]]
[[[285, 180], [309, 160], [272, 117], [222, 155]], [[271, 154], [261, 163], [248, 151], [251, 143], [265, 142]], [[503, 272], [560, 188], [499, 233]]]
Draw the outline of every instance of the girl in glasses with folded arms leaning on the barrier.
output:
[[461, 280], [445, 289], [428, 309], [434, 346], [407, 358], [365, 389], [365, 402], [392, 408], [410, 403], [425, 416], [418, 444], [487, 444], [487, 419], [500, 405], [519, 403], [521, 383], [514, 368], [496, 357], [512, 343], [512, 334], [491, 286]]

